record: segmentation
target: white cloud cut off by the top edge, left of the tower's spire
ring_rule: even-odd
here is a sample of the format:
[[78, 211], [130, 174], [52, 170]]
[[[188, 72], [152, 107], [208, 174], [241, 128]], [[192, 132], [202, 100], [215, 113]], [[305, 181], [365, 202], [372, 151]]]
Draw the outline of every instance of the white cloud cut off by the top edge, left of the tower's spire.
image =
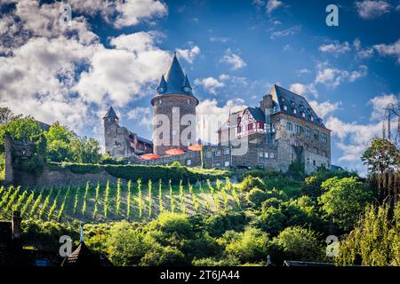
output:
[[168, 13], [167, 6], [158, 0], [124, 0], [116, 2], [116, 28], [135, 26], [140, 20], [163, 17]]

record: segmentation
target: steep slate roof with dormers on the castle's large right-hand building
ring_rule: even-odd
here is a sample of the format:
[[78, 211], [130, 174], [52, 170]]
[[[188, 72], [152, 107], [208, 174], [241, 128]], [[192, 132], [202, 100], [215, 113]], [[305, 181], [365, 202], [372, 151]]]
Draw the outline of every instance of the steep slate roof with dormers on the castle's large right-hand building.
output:
[[[286, 90], [276, 84], [272, 86], [269, 93], [272, 95], [272, 99], [274, 100], [276, 112], [291, 114], [325, 128], [323, 120], [318, 117], [313, 108], [308, 104], [307, 99], [303, 96]], [[284, 109], [284, 106], [287, 106], [286, 110]], [[296, 113], [294, 113], [294, 109], [296, 109]], [[302, 112], [305, 113], [305, 117], [302, 116]], [[311, 120], [311, 116], [314, 117], [314, 121]]]

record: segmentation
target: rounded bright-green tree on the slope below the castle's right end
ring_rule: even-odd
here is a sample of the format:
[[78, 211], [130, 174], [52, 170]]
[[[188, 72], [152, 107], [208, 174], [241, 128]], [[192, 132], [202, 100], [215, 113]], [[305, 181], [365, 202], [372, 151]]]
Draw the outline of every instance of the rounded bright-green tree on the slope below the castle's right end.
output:
[[363, 213], [365, 206], [373, 201], [372, 190], [357, 177], [332, 177], [322, 184], [325, 193], [318, 198], [328, 217], [344, 230], [351, 230]]

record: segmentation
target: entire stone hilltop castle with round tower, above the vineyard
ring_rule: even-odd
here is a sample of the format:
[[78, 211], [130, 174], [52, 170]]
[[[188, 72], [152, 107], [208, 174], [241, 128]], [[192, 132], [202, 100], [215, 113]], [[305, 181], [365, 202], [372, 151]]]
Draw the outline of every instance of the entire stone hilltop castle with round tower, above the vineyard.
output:
[[[220, 169], [287, 171], [300, 161], [310, 173], [331, 169], [331, 130], [307, 99], [273, 85], [260, 106], [229, 114], [218, 130], [218, 144], [196, 141], [196, 106], [199, 101], [173, 56], [151, 99], [153, 141], [140, 138], [118, 123], [113, 107], [104, 116], [105, 146], [114, 158], [140, 164], [170, 164]], [[171, 152], [172, 151], [172, 152]], [[150, 156], [151, 160], [144, 159]]]

